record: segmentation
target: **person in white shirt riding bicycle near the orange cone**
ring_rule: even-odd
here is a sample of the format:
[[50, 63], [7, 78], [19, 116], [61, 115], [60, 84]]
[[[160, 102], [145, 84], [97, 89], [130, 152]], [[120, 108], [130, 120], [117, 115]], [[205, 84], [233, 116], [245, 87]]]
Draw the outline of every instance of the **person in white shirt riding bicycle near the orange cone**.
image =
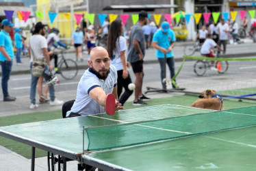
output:
[[[223, 51], [223, 49], [218, 44], [216, 44], [216, 42], [214, 42], [214, 40], [212, 39], [212, 35], [207, 34], [207, 38], [201, 47], [201, 55], [205, 57], [215, 57], [211, 49], [216, 49], [216, 47], [220, 49], [220, 51]], [[211, 70], [217, 70], [217, 68], [214, 67], [214, 63], [215, 62], [212, 61]]]

